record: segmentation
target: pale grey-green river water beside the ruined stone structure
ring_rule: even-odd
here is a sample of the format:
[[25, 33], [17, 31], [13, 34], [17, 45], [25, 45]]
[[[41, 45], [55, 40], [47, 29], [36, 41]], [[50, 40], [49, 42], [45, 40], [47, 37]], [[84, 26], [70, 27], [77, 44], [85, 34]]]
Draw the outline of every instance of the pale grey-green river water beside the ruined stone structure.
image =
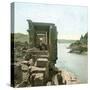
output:
[[88, 55], [68, 53], [70, 44], [58, 44], [58, 60], [56, 66], [68, 70], [80, 80], [81, 83], [88, 82]]

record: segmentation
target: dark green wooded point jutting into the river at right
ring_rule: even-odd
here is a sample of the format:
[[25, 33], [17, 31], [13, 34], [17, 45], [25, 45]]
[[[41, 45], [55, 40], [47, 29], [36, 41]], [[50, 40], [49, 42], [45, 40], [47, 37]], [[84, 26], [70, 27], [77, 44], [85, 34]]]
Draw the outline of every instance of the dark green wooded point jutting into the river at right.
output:
[[69, 48], [71, 49], [70, 52], [75, 53], [84, 53], [88, 51], [88, 33], [86, 33], [84, 36], [81, 35], [80, 40], [77, 40], [76, 42], [72, 43]]

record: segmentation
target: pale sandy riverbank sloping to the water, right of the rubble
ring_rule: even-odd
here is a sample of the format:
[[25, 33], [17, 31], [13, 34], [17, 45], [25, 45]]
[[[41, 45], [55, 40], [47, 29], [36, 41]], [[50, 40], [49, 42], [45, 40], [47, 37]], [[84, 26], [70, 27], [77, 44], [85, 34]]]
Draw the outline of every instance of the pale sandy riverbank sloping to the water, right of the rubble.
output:
[[[61, 84], [59, 84], [58, 82], [58, 73], [61, 73], [61, 76], [62, 76], [62, 82], [60, 82]], [[54, 85], [73, 85], [73, 84], [80, 84], [80, 81], [77, 79], [77, 77], [69, 72], [69, 71], [66, 71], [65, 69], [60, 69], [58, 68], [58, 73], [55, 74], [52, 78], [52, 81], [54, 82]], [[51, 82], [49, 82], [47, 84], [47, 86], [50, 86], [51, 85]]]

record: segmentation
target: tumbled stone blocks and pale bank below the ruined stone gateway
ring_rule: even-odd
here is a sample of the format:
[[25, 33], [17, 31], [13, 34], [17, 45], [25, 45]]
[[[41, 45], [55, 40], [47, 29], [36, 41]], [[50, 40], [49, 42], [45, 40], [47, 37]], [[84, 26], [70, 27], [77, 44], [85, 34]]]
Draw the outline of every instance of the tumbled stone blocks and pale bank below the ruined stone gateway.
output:
[[[48, 52], [36, 48], [24, 49], [23, 58], [14, 63], [15, 87], [65, 85], [79, 83], [74, 75], [55, 66], [50, 68]], [[20, 55], [22, 54], [20, 52]]]

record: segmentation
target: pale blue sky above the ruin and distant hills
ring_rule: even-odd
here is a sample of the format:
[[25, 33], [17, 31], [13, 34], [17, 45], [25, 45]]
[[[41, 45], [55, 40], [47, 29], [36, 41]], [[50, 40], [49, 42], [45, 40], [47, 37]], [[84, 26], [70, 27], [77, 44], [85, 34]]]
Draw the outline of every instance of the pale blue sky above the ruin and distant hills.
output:
[[79, 39], [88, 31], [88, 9], [83, 6], [15, 3], [15, 33], [27, 33], [27, 19], [54, 23], [59, 39]]

